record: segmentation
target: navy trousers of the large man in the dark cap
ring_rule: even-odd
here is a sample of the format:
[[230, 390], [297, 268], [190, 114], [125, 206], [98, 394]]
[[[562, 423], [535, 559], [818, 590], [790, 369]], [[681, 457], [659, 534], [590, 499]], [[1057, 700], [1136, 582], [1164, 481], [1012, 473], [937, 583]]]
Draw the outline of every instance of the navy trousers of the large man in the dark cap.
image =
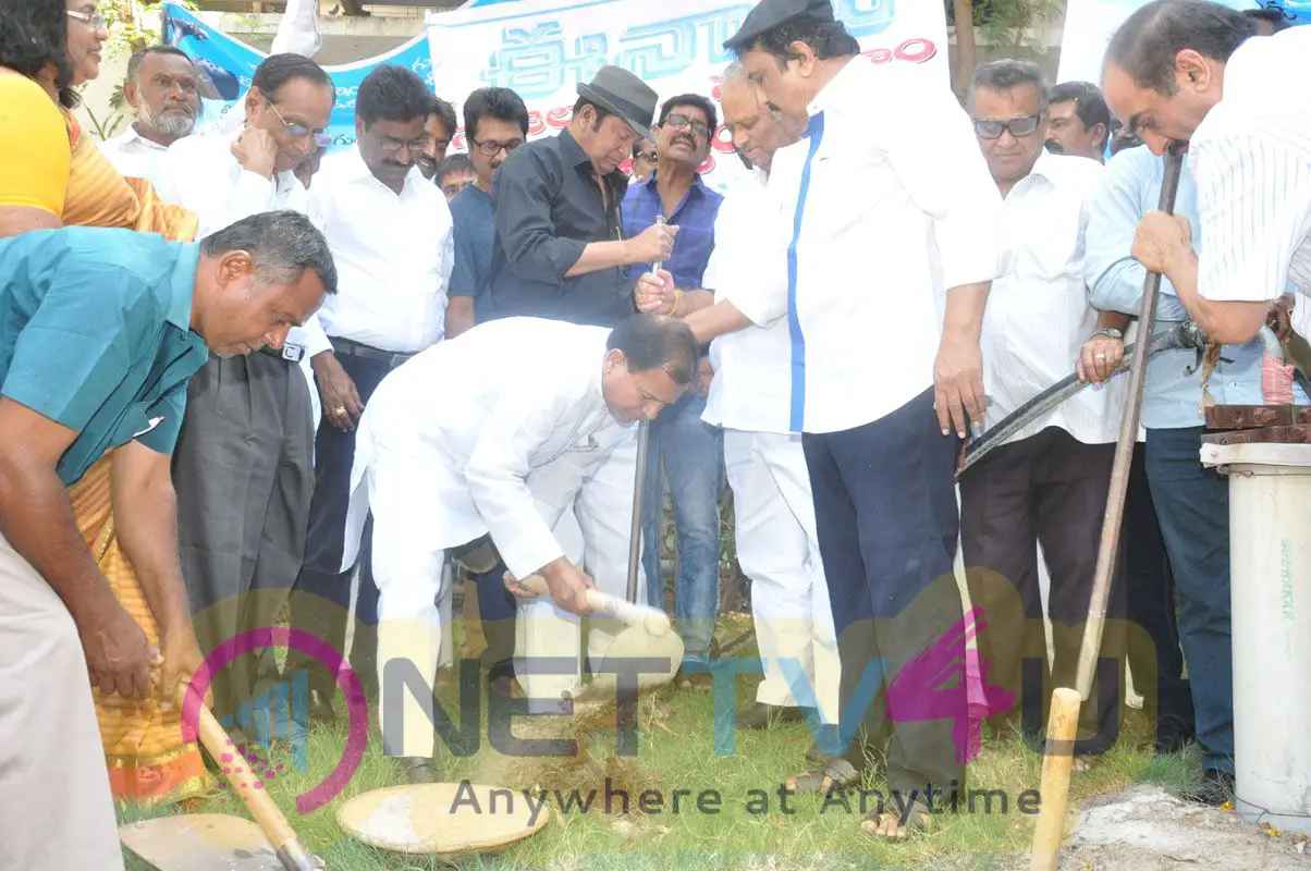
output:
[[[871, 424], [806, 433], [802, 447], [838, 632], [846, 758], [860, 770], [867, 752], [886, 748], [889, 788], [950, 792], [965, 780], [952, 735], [966, 718], [965, 681], [929, 687], [916, 655], [962, 619], [952, 573], [960, 442], [939, 432], [927, 391]], [[964, 636], [949, 648], [947, 662], [964, 662]], [[919, 686], [906, 693], [907, 682]]]

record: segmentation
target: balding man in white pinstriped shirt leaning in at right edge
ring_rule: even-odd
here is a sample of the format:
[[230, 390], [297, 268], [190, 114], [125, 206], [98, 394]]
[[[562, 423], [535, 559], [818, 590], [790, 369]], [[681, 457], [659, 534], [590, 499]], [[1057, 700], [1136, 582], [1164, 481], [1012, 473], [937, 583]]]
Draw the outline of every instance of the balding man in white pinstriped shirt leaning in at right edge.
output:
[[1188, 147], [1197, 235], [1150, 213], [1133, 254], [1169, 278], [1213, 341], [1255, 338], [1285, 289], [1311, 310], [1311, 106], [1277, 83], [1311, 81], [1311, 30], [1251, 38], [1252, 18], [1202, 0], [1156, 0], [1106, 47], [1106, 101], [1155, 153]]

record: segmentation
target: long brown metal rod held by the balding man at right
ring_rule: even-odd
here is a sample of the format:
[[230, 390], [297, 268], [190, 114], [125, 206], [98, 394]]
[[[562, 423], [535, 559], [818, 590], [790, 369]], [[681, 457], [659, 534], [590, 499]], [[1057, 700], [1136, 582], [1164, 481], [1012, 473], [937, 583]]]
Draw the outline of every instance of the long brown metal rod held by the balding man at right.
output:
[[[1165, 176], [1160, 186], [1159, 210], [1167, 215], [1175, 214], [1175, 194], [1179, 192], [1179, 174], [1184, 164], [1180, 151], [1165, 156]], [[1156, 296], [1160, 293], [1160, 273], [1147, 273], [1143, 282], [1143, 300], [1138, 312], [1138, 334], [1151, 336], [1156, 325]], [[1135, 354], [1129, 366], [1129, 395], [1125, 396], [1125, 412], [1120, 418], [1120, 439], [1116, 442], [1116, 460], [1110, 471], [1110, 491], [1106, 495], [1106, 513], [1101, 519], [1101, 543], [1097, 548], [1097, 569], [1092, 581], [1092, 597], [1088, 601], [1088, 622], [1084, 624], [1083, 645], [1079, 649], [1079, 674], [1075, 689], [1082, 699], [1092, 691], [1092, 678], [1097, 672], [1097, 656], [1101, 652], [1101, 635], [1106, 623], [1106, 601], [1110, 597], [1110, 580], [1116, 573], [1116, 557], [1120, 554], [1120, 529], [1125, 519], [1125, 493], [1129, 491], [1129, 468], [1134, 459], [1134, 446], [1138, 443], [1138, 416], [1142, 411], [1143, 386], [1147, 382], [1147, 354]]]

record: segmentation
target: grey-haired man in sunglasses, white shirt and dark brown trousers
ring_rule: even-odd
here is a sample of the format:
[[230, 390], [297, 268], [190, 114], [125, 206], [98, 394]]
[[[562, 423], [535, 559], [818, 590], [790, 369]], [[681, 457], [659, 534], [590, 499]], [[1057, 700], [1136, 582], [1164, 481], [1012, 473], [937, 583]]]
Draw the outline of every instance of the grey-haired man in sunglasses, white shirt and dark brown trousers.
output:
[[[985, 430], [1061, 380], [1093, 334], [1097, 312], [1084, 286], [1084, 230], [1101, 164], [1049, 153], [1049, 91], [1028, 60], [995, 60], [974, 72], [966, 106], [974, 134], [1004, 197], [1002, 227], [1009, 272], [992, 282], [983, 316], [983, 384], [991, 401]], [[982, 610], [979, 658], [990, 681], [1019, 693], [1021, 703], [992, 711], [994, 721], [1020, 719], [1041, 735], [1041, 711], [1054, 686], [1074, 686], [1083, 623], [1097, 567], [1099, 522], [1106, 508], [1121, 386], [1084, 390], [1012, 436], [961, 476], [961, 548], [970, 603]], [[1037, 548], [1051, 578], [1047, 615], [1054, 657], [1047, 669]], [[1112, 588], [1112, 617], [1122, 615], [1124, 585]], [[1122, 626], [1108, 624], [1103, 656], [1122, 647]], [[1024, 681], [1025, 660], [1042, 682]], [[1120, 669], [1122, 672], [1122, 660]], [[1106, 677], [1106, 670], [1099, 674]], [[1101, 753], [1118, 737], [1114, 679], [1093, 682], [1084, 706], [1079, 754]]]

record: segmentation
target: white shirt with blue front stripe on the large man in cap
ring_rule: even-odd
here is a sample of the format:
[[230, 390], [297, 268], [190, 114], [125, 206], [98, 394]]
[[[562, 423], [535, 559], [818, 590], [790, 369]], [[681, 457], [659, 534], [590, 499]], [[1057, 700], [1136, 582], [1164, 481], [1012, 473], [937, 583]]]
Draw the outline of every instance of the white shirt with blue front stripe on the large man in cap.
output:
[[773, 155], [759, 256], [714, 289], [758, 327], [788, 320], [791, 432], [855, 429], [932, 387], [947, 290], [1002, 269], [969, 115], [895, 66], [856, 56], [823, 87]]

